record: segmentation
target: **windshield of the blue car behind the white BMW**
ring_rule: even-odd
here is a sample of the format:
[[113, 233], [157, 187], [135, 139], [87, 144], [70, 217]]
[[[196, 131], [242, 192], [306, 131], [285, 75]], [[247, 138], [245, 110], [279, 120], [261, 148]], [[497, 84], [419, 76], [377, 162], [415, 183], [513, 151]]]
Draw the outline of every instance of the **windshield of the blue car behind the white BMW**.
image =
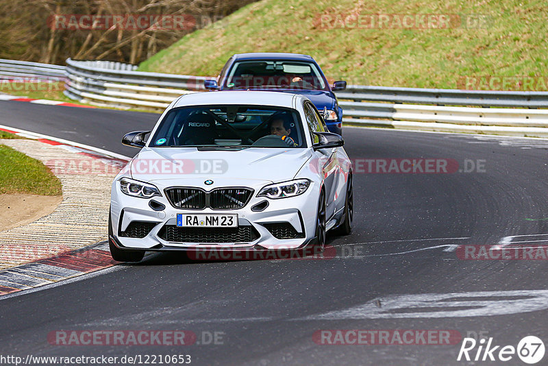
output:
[[224, 85], [227, 89], [328, 90], [325, 80], [311, 62], [235, 62]]

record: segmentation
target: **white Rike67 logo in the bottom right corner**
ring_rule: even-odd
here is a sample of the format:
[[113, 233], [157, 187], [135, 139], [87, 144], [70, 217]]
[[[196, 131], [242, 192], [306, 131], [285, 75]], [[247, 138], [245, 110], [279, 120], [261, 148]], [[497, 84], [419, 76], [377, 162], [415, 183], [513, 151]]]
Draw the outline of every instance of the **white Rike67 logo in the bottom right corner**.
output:
[[[477, 349], [476, 349], [477, 346]], [[517, 347], [513, 345], [495, 345], [493, 337], [476, 341], [473, 338], [464, 338], [457, 361], [510, 361], [517, 355], [521, 361], [533, 365], [543, 359], [545, 346], [540, 338], [535, 336], [523, 337]]]

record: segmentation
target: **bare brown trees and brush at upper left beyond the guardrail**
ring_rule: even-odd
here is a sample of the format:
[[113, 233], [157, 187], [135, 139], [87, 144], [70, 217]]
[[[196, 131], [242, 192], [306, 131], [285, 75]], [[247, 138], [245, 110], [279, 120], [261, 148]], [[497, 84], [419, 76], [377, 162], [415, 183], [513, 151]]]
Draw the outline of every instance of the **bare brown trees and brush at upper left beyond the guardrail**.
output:
[[[253, 1], [257, 0], [0, 0], [0, 58], [63, 64], [71, 57], [136, 64]], [[91, 20], [95, 16], [95, 25], [104, 23], [97, 21], [101, 16], [110, 16], [111, 24], [88, 27], [90, 21], [82, 27], [82, 15]], [[144, 15], [182, 16], [182, 24], [188, 26], [133, 26]], [[114, 23], [113, 16], [123, 16], [127, 23]], [[161, 18], [153, 19], [160, 19], [161, 25]]]

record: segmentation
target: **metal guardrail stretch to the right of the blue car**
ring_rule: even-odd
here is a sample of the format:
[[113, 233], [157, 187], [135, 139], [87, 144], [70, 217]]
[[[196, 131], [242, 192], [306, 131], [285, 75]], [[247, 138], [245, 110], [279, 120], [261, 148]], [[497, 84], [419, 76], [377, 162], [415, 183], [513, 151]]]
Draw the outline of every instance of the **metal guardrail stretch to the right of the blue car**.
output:
[[548, 92], [352, 85], [336, 95], [344, 110], [343, 123], [548, 137], [548, 109], [536, 109], [548, 108]]

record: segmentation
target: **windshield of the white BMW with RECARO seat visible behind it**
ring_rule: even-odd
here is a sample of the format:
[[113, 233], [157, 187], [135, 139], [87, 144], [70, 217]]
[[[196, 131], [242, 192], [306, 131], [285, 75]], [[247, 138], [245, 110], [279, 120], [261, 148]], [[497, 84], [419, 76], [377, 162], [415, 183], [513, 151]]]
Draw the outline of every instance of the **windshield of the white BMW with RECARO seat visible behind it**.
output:
[[306, 147], [296, 110], [258, 106], [192, 106], [170, 110], [150, 147]]

